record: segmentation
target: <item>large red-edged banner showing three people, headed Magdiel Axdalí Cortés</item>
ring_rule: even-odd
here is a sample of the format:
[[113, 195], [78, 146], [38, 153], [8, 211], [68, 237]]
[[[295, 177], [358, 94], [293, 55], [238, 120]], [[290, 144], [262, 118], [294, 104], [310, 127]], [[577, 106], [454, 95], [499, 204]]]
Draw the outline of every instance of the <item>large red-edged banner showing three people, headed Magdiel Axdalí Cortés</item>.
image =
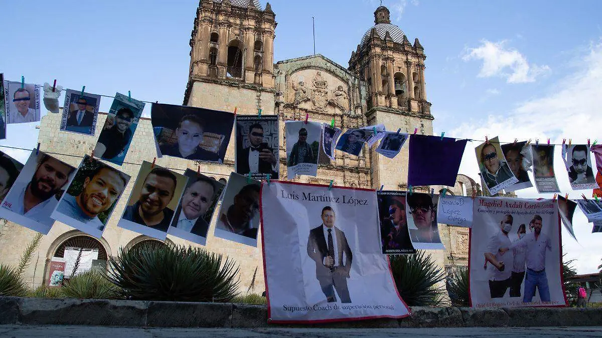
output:
[[473, 307], [566, 306], [556, 201], [475, 198], [469, 264]]

